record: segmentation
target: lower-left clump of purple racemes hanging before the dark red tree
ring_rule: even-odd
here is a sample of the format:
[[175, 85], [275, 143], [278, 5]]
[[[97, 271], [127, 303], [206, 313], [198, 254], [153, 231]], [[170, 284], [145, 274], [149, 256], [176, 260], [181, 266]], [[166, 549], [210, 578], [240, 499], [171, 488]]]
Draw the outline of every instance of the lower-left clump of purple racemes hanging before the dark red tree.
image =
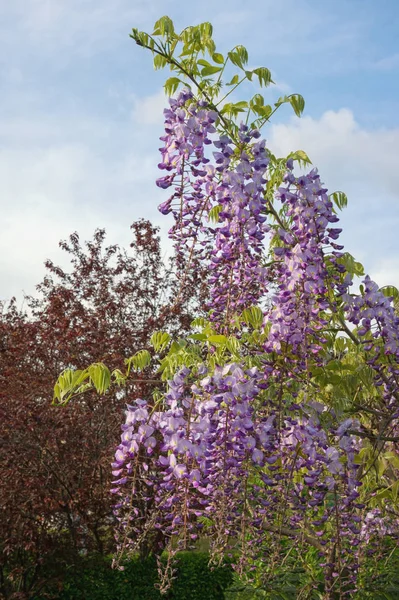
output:
[[[115, 512], [129, 538], [123, 547], [136, 547], [154, 527], [168, 537], [183, 531], [187, 545], [202, 527], [198, 517], [218, 513], [220, 503], [228, 512], [227, 502], [242, 484], [244, 462], [259, 462], [263, 455], [263, 430], [254, 432], [250, 416], [258, 372], [238, 365], [212, 376], [206, 376], [205, 367], [200, 371], [205, 376], [196, 384], [188, 383], [188, 369], [175, 375], [165, 410], [150, 409], [143, 400], [128, 408], [113, 464], [113, 492], [120, 496]], [[145, 514], [139, 509], [132, 514], [132, 498], [135, 506], [142, 498]]]

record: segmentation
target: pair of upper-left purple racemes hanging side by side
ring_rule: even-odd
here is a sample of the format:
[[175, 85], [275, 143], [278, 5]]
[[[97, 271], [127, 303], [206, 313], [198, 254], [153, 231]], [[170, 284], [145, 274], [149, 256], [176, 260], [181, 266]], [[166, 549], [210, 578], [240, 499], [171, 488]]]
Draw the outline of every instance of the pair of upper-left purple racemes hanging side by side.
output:
[[[171, 174], [157, 180], [162, 188], [174, 186], [172, 196], [159, 210], [172, 212], [175, 224], [169, 235], [190, 265], [194, 256], [210, 271], [208, 308], [216, 322], [256, 304], [266, 292], [267, 271], [262, 266], [265, 232], [265, 178], [268, 165], [265, 140], [259, 131], [241, 125], [238, 145], [227, 135], [214, 136], [215, 111], [193, 102], [183, 90], [165, 110], [166, 135], [161, 139], [159, 167]], [[211, 158], [205, 147], [216, 148]], [[206, 219], [217, 209], [218, 226]]]

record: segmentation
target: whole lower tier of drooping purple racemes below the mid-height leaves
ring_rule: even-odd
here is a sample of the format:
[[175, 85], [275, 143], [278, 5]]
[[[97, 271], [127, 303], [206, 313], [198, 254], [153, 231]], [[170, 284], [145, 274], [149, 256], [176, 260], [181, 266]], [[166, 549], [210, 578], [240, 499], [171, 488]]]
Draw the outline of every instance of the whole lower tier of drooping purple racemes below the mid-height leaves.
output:
[[[188, 547], [206, 517], [214, 555], [237, 539], [249, 561], [254, 540], [261, 544], [270, 526], [300, 534], [306, 517], [316, 522], [324, 556], [337, 539], [338, 509], [351, 556], [360, 532], [352, 421], [329, 439], [319, 404], [318, 413], [298, 406], [278, 426], [278, 414], [262, 402], [260, 370], [229, 364], [205, 371], [177, 373], [162, 410], [143, 400], [128, 407], [113, 463], [120, 552], [137, 550], [154, 532], [162, 534], [160, 549], [176, 547], [173, 539]], [[261, 487], [251, 483], [254, 470]]]

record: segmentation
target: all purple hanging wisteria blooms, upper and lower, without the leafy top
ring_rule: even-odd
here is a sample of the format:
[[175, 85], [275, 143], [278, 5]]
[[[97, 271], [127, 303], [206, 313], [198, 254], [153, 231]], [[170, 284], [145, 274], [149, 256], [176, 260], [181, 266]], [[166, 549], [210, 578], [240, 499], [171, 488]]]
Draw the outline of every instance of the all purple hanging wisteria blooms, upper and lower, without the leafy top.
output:
[[[325, 329], [340, 304], [397, 418], [399, 317], [369, 277], [361, 295], [349, 293], [338, 217], [317, 170], [296, 177], [289, 160], [273, 204], [265, 140], [244, 124], [219, 134], [218, 121], [188, 89], [170, 100], [159, 163], [166, 174], [157, 185], [171, 195], [159, 210], [174, 218], [181, 285], [193, 261], [207, 277], [216, 330], [230, 333], [244, 309], [263, 307], [258, 366], [248, 368], [244, 345], [237, 362], [180, 368], [163, 404], [138, 399], [127, 407], [112, 464], [118, 547], [136, 551], [158, 532], [158, 550], [173, 554], [206, 523], [214, 555], [232, 539], [241, 544], [244, 571], [262, 548], [269, 552], [269, 529], [306, 541], [311, 524], [333, 589], [337, 564], [354, 582], [359, 545], [373, 527], [390, 529], [359, 502], [360, 423], [338, 418], [316, 384], [312, 397], [308, 359], [324, 367]], [[274, 256], [266, 266], [268, 233]]]

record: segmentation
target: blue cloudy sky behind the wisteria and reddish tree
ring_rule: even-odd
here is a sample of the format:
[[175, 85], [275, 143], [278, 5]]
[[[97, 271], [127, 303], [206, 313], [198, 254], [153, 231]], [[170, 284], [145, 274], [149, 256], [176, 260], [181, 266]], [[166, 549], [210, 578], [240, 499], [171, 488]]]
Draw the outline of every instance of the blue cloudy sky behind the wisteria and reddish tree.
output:
[[0, 299], [34, 293], [58, 241], [106, 227], [128, 245], [156, 206], [162, 83], [129, 39], [168, 14], [211, 21], [220, 51], [244, 44], [268, 92], [301, 93], [265, 130], [279, 155], [304, 149], [348, 194], [346, 248], [380, 285], [399, 284], [398, 0], [0, 0]]

